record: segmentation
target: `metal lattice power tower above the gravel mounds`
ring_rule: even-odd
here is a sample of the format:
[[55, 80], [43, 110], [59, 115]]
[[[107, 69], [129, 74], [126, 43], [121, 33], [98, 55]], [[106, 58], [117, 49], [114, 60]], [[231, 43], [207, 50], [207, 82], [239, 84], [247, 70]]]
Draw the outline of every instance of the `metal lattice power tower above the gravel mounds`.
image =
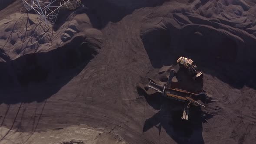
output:
[[81, 0], [22, 0], [26, 10], [33, 9], [46, 23], [54, 24], [60, 8], [75, 10], [81, 6]]

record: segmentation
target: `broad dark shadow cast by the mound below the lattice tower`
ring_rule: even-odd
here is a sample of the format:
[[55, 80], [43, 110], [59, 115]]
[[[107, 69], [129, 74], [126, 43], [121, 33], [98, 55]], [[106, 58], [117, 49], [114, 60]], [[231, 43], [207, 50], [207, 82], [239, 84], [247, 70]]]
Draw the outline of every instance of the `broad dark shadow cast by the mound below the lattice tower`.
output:
[[44, 101], [59, 91], [98, 54], [100, 46], [77, 36], [49, 52], [0, 62], [0, 104]]

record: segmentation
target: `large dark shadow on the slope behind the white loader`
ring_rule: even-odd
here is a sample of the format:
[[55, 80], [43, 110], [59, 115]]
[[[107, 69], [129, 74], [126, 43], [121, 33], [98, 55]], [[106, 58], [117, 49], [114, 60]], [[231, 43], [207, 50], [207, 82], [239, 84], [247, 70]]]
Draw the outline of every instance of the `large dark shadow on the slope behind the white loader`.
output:
[[[141, 32], [144, 49], [148, 53], [151, 65], [161, 68], [163, 65], [177, 63], [180, 56], [189, 57], [206, 74], [217, 77], [234, 88], [248, 86], [256, 89], [255, 63], [241, 61], [243, 46], [238, 46], [235, 39], [217, 31], [207, 35], [201, 29], [175, 29], [174, 26], [159, 26]], [[175, 39], [174, 39], [175, 36]], [[216, 38], [217, 37], [217, 38]], [[240, 44], [241, 45], [241, 44]]]

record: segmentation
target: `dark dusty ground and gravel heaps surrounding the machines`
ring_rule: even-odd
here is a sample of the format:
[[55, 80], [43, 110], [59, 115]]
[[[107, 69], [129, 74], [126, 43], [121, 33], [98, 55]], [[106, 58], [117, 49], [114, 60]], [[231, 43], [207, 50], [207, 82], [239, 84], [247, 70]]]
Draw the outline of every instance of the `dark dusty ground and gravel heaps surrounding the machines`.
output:
[[[20, 0], [1, 7], [1, 144], [50, 134], [66, 138], [45, 143], [255, 142], [255, 1], [82, 2], [54, 27], [19, 13]], [[188, 122], [183, 105], [136, 87], [179, 56], [197, 63], [201, 88], [218, 99]]]

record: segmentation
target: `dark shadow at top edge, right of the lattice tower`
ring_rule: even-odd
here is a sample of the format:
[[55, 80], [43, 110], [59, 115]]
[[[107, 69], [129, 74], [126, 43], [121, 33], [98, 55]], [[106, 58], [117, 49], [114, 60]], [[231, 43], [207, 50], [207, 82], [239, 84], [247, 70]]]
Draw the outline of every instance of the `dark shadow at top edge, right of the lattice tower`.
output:
[[[83, 0], [82, 3], [88, 7], [90, 13], [101, 21], [101, 26], [98, 23], [92, 23], [95, 28], [104, 28], [109, 22], [116, 23], [131, 14], [134, 10], [142, 7], [157, 7], [169, 0], [123, 0], [122, 3], [116, 0]], [[85, 10], [85, 9], [84, 9]], [[85, 10], [86, 12], [87, 10]], [[80, 12], [81, 13], [81, 12]]]

